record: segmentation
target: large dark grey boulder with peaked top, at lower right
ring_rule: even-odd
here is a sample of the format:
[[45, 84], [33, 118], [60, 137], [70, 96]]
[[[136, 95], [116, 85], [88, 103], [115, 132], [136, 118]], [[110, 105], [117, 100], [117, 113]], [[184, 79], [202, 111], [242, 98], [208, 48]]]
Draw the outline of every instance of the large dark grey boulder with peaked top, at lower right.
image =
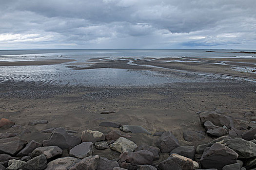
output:
[[236, 163], [238, 154], [232, 149], [215, 143], [205, 151], [200, 159], [203, 168], [216, 168], [221, 170], [225, 165]]

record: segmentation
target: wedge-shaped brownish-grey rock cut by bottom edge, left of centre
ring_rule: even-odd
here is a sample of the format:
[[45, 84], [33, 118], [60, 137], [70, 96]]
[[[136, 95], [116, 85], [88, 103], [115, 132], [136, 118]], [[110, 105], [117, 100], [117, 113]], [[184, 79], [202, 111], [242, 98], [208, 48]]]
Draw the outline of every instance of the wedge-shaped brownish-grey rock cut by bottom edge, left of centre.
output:
[[97, 170], [99, 155], [85, 157], [69, 170]]

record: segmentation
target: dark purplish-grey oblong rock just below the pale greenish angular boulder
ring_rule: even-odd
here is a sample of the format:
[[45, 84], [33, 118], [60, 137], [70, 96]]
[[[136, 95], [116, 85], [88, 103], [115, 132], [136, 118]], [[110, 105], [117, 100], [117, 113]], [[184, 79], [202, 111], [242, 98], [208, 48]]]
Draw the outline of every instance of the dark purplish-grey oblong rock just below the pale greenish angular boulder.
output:
[[135, 153], [125, 152], [119, 156], [121, 162], [128, 162], [132, 165], [152, 165], [153, 158], [153, 153], [147, 150], [140, 150]]

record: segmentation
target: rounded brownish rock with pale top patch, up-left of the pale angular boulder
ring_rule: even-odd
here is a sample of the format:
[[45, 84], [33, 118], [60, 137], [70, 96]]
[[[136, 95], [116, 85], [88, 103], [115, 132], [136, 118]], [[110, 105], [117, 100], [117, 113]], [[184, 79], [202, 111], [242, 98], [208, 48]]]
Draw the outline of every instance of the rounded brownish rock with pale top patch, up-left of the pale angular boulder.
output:
[[101, 140], [105, 140], [104, 134], [98, 131], [86, 130], [82, 132], [81, 136], [82, 142], [98, 142]]

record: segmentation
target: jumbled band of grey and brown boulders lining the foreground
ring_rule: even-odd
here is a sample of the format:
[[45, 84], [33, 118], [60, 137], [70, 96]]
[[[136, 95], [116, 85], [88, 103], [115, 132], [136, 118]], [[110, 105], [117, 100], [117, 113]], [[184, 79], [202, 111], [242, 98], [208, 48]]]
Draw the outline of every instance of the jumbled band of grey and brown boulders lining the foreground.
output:
[[[198, 112], [210, 143], [195, 146], [180, 146], [171, 131], [157, 132], [155, 146], [129, 140], [125, 133], [151, 132], [141, 126], [121, 125], [103, 121], [99, 126], [117, 128], [108, 134], [85, 130], [81, 136], [62, 127], [45, 129], [51, 133], [41, 143], [19, 138], [18, 133], [0, 133], [0, 170], [256, 170], [256, 127], [246, 121], [234, 121], [221, 112]], [[245, 117], [255, 118], [253, 112]], [[255, 120], [253, 120], [255, 121]], [[29, 125], [47, 123], [47, 120], [29, 122]], [[15, 125], [9, 119], [0, 119], [0, 128]], [[203, 133], [186, 130], [184, 140], [196, 141]], [[109, 160], [95, 155], [96, 150], [111, 149], [120, 153], [118, 159]], [[162, 155], [169, 154], [161, 160]], [[160, 160], [159, 160], [160, 159]]]

